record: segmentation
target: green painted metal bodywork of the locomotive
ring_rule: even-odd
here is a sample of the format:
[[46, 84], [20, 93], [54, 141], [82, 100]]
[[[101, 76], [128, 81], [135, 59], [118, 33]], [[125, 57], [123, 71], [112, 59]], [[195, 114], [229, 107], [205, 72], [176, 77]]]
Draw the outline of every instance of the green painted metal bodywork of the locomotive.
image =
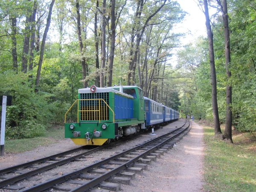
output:
[[[81, 119], [85, 119], [86, 115], [81, 115], [83, 113], [78, 113], [79, 114], [79, 122], [73, 122], [73, 123], [66, 123], [65, 124], [65, 138], [81, 138], [81, 139], [85, 139], [86, 138], [86, 133], [89, 132], [90, 133], [90, 137], [92, 137], [93, 132], [94, 131], [100, 131], [101, 132], [101, 136], [98, 137], [99, 139], [114, 139], [116, 136], [118, 136], [118, 128], [119, 127], [124, 127], [124, 126], [129, 126], [129, 125], [140, 125], [142, 123], [145, 123], [145, 115], [144, 115], [144, 99], [143, 99], [143, 93], [142, 90], [139, 87], [134, 86], [133, 87], [136, 90], [136, 95], [137, 97], [135, 99], [133, 99], [134, 102], [134, 111], [133, 111], [133, 118], [131, 119], [114, 119], [113, 116], [113, 112], [115, 112], [115, 95], [119, 94], [119, 93], [115, 93], [115, 92], [108, 92], [108, 98], [106, 100], [109, 107], [112, 109], [105, 110], [108, 112], [108, 119], [103, 119], [103, 120], [99, 120], [99, 119], [93, 119], [93, 117], [90, 117], [90, 120], [81, 120]], [[101, 88], [103, 89], [103, 88]], [[90, 94], [90, 93], [88, 93]], [[99, 97], [100, 95], [103, 95], [106, 93], [99, 93]], [[104, 96], [105, 96], [104, 95]], [[119, 94], [120, 95], [120, 94]], [[124, 96], [122, 95], [122, 97], [126, 97], [129, 99], [132, 99], [131, 96]], [[79, 93], [79, 99], [84, 99], [81, 97], [81, 94]], [[94, 105], [94, 103], [97, 103], [97, 101], [99, 100], [90, 100], [87, 99], [86, 101], [80, 101], [80, 102], [90, 102], [90, 110], [88, 111], [92, 111], [94, 110], [96, 107]], [[102, 102], [103, 105], [103, 102]], [[117, 105], [117, 103], [116, 103]], [[81, 108], [81, 103], [79, 104], [79, 111], [84, 110]], [[88, 108], [89, 108], [88, 107]], [[85, 109], [87, 110], [87, 109]], [[86, 113], [86, 112], [84, 112]], [[92, 114], [95, 114], [97, 112], [92, 111]], [[102, 115], [102, 114], [100, 114]], [[100, 116], [98, 114], [98, 116]], [[70, 124], [74, 125], [74, 129], [71, 130], [70, 129]], [[102, 129], [102, 124], [106, 124], [107, 128], [104, 130]], [[80, 131], [80, 136], [78, 137], [74, 137], [73, 136], [73, 131]]]

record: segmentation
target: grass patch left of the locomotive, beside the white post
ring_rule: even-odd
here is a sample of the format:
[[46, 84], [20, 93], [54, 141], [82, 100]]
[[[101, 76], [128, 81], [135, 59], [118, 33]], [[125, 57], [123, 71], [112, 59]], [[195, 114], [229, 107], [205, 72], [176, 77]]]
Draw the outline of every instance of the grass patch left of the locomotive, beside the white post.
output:
[[64, 126], [52, 126], [48, 128], [44, 137], [35, 137], [19, 140], [5, 140], [5, 153], [22, 153], [30, 151], [40, 146], [47, 146], [53, 143], [58, 143], [64, 139]]

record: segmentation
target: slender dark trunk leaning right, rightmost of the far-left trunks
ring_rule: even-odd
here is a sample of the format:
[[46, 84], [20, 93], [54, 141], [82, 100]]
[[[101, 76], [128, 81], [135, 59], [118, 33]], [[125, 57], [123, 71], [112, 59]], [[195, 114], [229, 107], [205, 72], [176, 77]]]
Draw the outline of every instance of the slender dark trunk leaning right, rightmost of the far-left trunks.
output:
[[43, 35], [42, 44], [41, 44], [40, 58], [39, 58], [39, 62], [38, 62], [38, 70], [37, 70], [36, 80], [35, 80], [35, 92], [36, 93], [38, 92], [38, 85], [39, 85], [39, 80], [40, 80], [41, 67], [42, 67], [42, 62], [43, 62], [43, 57], [44, 57], [44, 45], [45, 45], [48, 30], [49, 30], [49, 26], [50, 26], [50, 23], [51, 23], [52, 7], [54, 5], [54, 2], [55, 2], [55, 0], [52, 0], [52, 3], [50, 4], [50, 7], [49, 7], [47, 23], [46, 23], [46, 26], [45, 26], [45, 29], [44, 29], [44, 35]]

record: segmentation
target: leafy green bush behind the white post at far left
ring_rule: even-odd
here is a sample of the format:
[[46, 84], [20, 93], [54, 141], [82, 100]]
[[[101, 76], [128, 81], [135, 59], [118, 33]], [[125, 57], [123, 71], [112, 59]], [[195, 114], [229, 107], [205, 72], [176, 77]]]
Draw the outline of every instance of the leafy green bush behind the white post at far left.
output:
[[36, 94], [28, 76], [6, 71], [0, 75], [0, 94], [12, 96], [7, 107], [6, 137], [28, 138], [44, 135], [47, 118], [51, 116], [43, 94]]

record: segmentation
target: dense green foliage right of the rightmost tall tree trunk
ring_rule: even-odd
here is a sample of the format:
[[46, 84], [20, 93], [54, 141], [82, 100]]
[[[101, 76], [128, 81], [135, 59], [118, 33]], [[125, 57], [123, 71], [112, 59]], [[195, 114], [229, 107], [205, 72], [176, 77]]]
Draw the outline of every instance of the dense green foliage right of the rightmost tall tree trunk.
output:
[[256, 3], [231, 1], [233, 122], [237, 129], [256, 130]]

